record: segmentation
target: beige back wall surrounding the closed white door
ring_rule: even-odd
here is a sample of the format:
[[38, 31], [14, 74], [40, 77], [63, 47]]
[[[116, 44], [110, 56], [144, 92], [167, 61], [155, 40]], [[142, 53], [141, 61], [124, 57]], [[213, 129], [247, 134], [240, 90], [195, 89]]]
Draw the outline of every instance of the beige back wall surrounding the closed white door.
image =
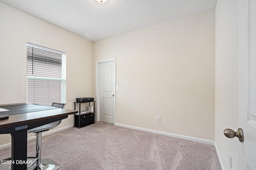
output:
[[96, 61], [116, 58], [116, 123], [214, 141], [215, 10], [97, 41], [93, 55], [93, 87]]

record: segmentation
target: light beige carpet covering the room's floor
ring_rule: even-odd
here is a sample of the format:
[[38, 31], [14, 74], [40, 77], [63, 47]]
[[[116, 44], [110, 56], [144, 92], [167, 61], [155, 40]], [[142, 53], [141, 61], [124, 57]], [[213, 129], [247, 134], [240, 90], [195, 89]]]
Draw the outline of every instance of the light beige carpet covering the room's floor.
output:
[[[35, 148], [36, 140], [29, 141], [28, 155]], [[0, 160], [10, 155], [10, 148], [0, 150]], [[47, 157], [59, 170], [221, 170], [212, 145], [104, 122], [42, 137], [42, 159]]]

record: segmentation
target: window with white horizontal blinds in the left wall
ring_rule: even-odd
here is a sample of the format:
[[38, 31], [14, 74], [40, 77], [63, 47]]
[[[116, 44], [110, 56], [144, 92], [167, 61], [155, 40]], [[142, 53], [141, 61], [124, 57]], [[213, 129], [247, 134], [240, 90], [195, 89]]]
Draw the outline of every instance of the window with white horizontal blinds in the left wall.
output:
[[66, 53], [27, 43], [27, 103], [66, 103]]

